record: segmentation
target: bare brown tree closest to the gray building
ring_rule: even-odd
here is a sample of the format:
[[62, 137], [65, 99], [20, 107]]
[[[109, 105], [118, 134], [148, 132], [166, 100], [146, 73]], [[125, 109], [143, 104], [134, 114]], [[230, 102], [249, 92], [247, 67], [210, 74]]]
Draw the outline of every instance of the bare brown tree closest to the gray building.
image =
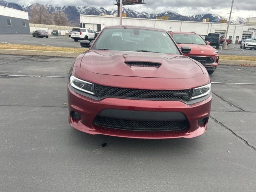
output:
[[52, 24], [49, 11], [43, 5], [34, 4], [31, 8], [31, 15], [31, 23]]

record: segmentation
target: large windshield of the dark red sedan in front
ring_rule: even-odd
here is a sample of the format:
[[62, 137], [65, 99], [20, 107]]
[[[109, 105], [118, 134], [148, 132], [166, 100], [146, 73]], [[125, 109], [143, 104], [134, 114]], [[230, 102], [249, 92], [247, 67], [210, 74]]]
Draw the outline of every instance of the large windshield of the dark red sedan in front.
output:
[[132, 28], [103, 30], [92, 49], [180, 54], [167, 32]]

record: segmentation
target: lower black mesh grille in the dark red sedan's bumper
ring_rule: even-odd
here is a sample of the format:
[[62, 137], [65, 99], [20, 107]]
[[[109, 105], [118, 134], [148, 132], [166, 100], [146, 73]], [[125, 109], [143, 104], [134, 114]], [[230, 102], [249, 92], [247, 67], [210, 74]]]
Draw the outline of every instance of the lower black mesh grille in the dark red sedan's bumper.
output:
[[107, 128], [116, 128], [123, 130], [135, 131], [171, 131], [181, 130], [187, 125], [186, 120], [173, 121], [143, 121], [143, 120], [126, 120], [97, 116], [95, 124]]

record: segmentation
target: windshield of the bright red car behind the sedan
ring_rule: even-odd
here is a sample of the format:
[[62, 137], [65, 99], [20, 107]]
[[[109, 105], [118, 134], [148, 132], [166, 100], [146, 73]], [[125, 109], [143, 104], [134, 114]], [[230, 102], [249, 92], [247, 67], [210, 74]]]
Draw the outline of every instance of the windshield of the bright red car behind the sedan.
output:
[[182, 44], [206, 45], [201, 36], [196, 34], [173, 34], [174, 41]]

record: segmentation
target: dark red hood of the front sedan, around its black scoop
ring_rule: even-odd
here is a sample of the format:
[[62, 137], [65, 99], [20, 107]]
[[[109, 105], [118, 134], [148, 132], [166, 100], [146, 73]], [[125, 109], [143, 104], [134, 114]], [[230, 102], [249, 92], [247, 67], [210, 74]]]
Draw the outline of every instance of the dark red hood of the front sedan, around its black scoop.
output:
[[[160, 67], [128, 66], [125, 62], [156, 62]], [[81, 68], [97, 74], [148, 78], [193, 78], [203, 74], [200, 66], [183, 55], [151, 52], [89, 50]]]

